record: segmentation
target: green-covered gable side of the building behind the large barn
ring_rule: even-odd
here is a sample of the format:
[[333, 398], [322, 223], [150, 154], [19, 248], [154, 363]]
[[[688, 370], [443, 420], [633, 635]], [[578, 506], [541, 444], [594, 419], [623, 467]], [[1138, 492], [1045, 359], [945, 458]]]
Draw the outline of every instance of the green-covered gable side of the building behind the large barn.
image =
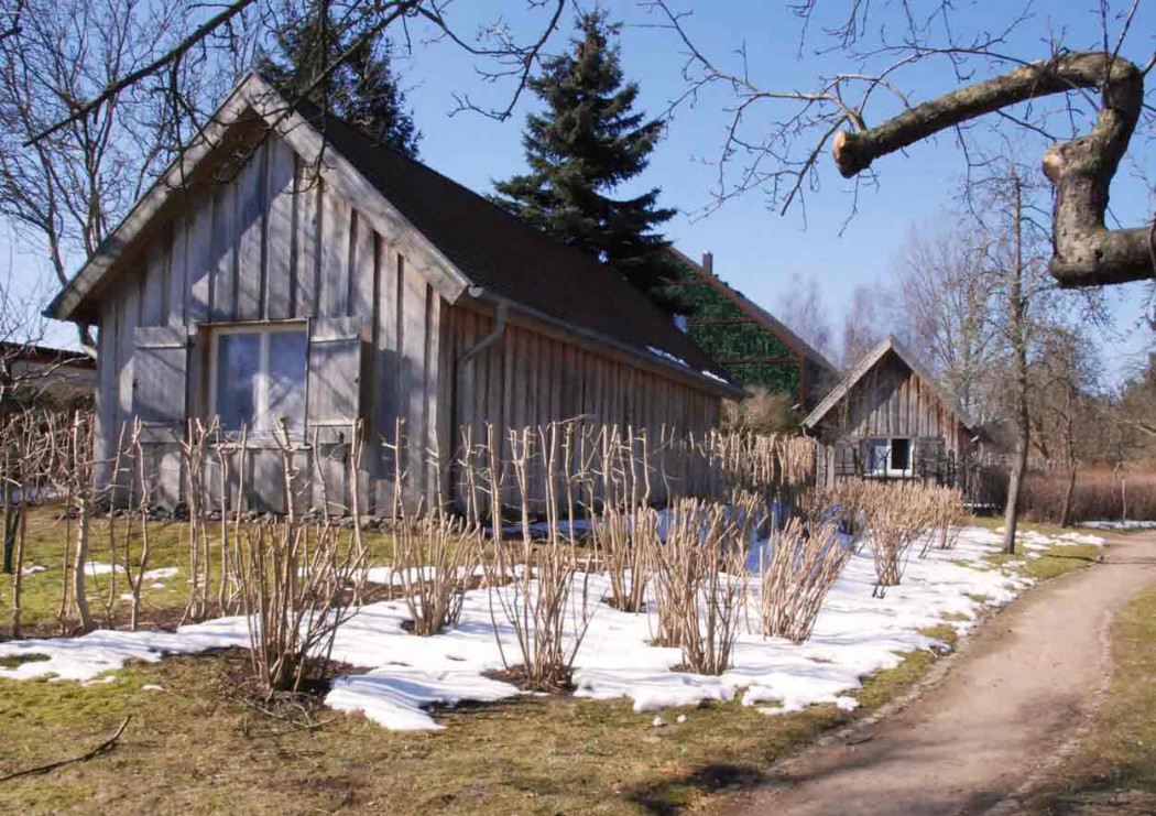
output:
[[735, 383], [786, 394], [806, 413], [839, 380], [827, 357], [719, 277], [711, 253], [701, 264], [677, 250], [672, 253], [682, 274], [668, 292], [687, 312], [681, 322]]

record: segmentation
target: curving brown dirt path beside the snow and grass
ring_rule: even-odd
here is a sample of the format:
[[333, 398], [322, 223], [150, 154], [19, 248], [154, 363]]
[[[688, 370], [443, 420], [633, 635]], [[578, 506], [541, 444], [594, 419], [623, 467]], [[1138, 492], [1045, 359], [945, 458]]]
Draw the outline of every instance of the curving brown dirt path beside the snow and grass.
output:
[[[1156, 583], [1156, 534], [1119, 536], [1104, 564], [1039, 587], [969, 639], [904, 711], [787, 764], [735, 816], [983, 814], [1072, 742], [1107, 676], [1112, 614]], [[999, 811], [1007, 811], [1007, 802]]]

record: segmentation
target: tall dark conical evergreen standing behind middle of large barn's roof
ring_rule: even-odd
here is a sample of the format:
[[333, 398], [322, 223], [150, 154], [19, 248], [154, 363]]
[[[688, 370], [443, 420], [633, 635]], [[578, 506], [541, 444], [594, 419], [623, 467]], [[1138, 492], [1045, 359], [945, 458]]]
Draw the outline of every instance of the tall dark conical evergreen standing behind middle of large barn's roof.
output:
[[583, 14], [572, 50], [546, 60], [529, 82], [546, 103], [526, 119], [523, 144], [529, 172], [495, 184], [495, 201], [560, 240], [609, 264], [668, 311], [659, 294], [676, 273], [654, 230], [673, 209], [659, 191], [615, 199], [610, 193], [638, 176], [662, 136], [662, 123], [633, 110], [638, 86], [623, 82], [620, 53], [610, 45], [621, 25], [605, 12]]

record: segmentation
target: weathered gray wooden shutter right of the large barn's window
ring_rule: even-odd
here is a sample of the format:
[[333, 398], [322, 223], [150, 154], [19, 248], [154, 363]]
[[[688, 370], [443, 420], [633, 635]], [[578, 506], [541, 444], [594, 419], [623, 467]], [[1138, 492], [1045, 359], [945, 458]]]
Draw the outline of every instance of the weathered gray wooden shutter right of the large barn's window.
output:
[[310, 433], [348, 432], [361, 416], [361, 318], [314, 318], [309, 325], [305, 424]]

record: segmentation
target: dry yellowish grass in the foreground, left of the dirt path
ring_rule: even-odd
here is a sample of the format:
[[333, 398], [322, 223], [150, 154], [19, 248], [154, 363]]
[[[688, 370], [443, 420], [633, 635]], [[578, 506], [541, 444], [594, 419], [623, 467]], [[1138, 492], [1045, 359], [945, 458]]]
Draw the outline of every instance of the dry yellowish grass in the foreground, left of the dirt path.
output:
[[[851, 717], [822, 705], [768, 718], [728, 703], [664, 712], [669, 725], [654, 728], [654, 714], [628, 700], [555, 696], [443, 712], [443, 732], [392, 733], [333, 712], [302, 730], [222, 691], [246, 660], [172, 658], [88, 688], [0, 681], [0, 773], [99, 742], [133, 715], [112, 754], [0, 786], [0, 813], [679, 814], [757, 784], [770, 763]], [[865, 710], [934, 660], [914, 653], [873, 677]]]

